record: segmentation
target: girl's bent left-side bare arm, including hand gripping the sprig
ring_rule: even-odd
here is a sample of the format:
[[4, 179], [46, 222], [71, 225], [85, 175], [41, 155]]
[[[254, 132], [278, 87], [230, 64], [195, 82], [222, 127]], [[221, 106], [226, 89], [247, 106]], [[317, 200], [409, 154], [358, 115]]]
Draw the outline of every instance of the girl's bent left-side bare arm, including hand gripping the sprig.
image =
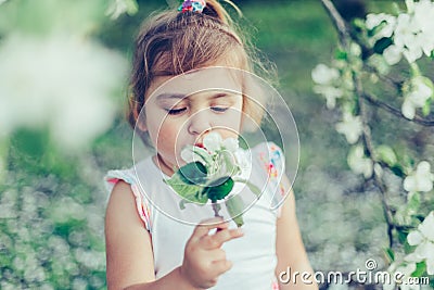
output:
[[[229, 230], [227, 223], [199, 225], [186, 244], [182, 265], [155, 280], [151, 236], [143, 227], [135, 202], [130, 186], [118, 181], [105, 216], [108, 289], [204, 289], [214, 286], [218, 276], [231, 267], [220, 247], [241, 237], [242, 232]], [[208, 235], [213, 228], [221, 230]]]

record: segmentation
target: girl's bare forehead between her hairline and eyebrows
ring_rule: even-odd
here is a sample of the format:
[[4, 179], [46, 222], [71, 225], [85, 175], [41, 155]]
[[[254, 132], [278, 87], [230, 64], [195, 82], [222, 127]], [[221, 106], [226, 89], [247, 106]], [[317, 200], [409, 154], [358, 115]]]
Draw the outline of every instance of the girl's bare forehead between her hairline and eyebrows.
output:
[[192, 96], [203, 91], [241, 93], [245, 72], [230, 67], [206, 67], [178, 76], [155, 77], [150, 86], [150, 98], [158, 96]]

